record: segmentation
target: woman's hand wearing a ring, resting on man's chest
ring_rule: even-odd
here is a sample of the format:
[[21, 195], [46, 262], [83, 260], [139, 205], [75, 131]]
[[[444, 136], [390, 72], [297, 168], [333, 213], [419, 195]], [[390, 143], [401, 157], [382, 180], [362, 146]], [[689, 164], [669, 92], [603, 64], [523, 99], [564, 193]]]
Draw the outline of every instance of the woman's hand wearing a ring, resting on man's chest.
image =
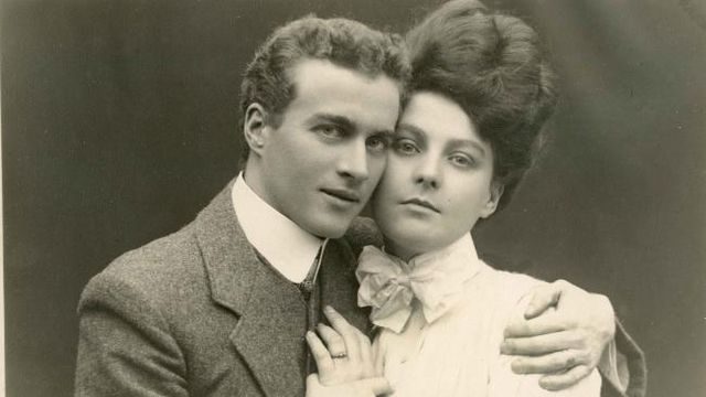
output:
[[325, 307], [323, 312], [331, 326], [317, 325], [319, 335], [307, 332], [307, 343], [319, 369], [317, 380], [323, 386], [332, 386], [375, 377], [370, 339], [333, 308]]

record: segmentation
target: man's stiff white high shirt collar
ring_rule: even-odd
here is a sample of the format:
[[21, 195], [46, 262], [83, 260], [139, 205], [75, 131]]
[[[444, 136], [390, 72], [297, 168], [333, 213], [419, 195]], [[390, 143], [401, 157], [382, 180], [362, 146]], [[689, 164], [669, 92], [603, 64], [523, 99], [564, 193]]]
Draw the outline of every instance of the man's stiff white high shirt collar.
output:
[[247, 185], [242, 172], [233, 184], [231, 196], [235, 215], [250, 245], [288, 280], [303, 281], [323, 239], [303, 230], [267, 204]]

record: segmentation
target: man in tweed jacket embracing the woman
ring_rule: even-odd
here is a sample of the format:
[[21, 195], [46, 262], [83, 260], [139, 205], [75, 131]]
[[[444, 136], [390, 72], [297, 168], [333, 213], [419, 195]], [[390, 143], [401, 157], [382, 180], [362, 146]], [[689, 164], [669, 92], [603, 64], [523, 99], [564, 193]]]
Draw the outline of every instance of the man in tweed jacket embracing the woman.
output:
[[[312, 369], [303, 335], [321, 308], [370, 329], [353, 273], [354, 247], [370, 233], [343, 236], [385, 168], [408, 74], [400, 41], [357, 22], [304, 18], [278, 29], [242, 87], [245, 172], [191, 224], [125, 254], [86, 287], [76, 395], [303, 396]], [[563, 304], [588, 297], [550, 292]], [[537, 311], [554, 301], [539, 294]], [[549, 325], [564, 330], [557, 321]], [[517, 334], [547, 331], [533, 324]], [[610, 325], [580, 339], [597, 346], [577, 348], [593, 354], [574, 364], [595, 366]], [[553, 351], [515, 342], [515, 353]], [[576, 355], [543, 357], [556, 371]], [[518, 371], [549, 372], [530, 363]]]

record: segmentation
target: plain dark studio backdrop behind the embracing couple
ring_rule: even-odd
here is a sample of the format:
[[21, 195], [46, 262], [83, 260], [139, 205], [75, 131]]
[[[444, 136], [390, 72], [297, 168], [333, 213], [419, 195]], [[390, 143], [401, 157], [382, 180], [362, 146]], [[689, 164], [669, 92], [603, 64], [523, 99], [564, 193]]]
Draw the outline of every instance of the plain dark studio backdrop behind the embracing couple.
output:
[[[69, 396], [76, 303], [113, 258], [178, 229], [237, 171], [237, 92], [278, 24], [404, 32], [429, 0], [3, 0], [8, 396]], [[552, 141], [478, 230], [509, 269], [608, 294], [651, 396], [706, 391], [706, 4], [489, 1], [560, 75]]]

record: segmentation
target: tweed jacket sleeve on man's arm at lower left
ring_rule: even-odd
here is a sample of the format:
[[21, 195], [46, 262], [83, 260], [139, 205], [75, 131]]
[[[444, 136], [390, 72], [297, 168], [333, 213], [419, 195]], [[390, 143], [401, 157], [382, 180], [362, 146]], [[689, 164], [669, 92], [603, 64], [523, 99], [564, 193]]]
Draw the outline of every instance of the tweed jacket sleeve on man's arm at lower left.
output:
[[118, 277], [94, 278], [78, 304], [76, 396], [188, 396], [186, 366], [156, 302]]

